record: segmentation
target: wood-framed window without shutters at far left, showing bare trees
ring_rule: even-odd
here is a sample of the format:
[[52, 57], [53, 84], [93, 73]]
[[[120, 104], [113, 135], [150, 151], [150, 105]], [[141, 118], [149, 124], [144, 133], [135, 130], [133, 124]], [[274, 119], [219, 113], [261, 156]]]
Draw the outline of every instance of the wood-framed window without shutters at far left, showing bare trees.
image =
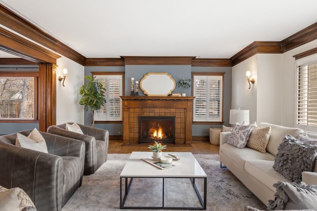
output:
[[38, 72], [0, 72], [0, 120], [38, 119]]

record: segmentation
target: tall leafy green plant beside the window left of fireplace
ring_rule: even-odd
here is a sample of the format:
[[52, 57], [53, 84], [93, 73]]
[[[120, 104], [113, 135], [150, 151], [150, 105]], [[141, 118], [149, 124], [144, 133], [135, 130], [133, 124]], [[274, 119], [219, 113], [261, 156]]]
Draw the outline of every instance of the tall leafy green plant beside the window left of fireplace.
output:
[[88, 107], [91, 109], [91, 122], [90, 126], [94, 127], [95, 121], [95, 110], [98, 110], [101, 108], [101, 106], [106, 103], [105, 99], [105, 92], [106, 88], [96, 80], [95, 77], [91, 76], [85, 76], [85, 79], [89, 80], [86, 85], [82, 85], [79, 88], [79, 94], [82, 95], [82, 97], [79, 100], [80, 105], [85, 106], [85, 111], [88, 110]]

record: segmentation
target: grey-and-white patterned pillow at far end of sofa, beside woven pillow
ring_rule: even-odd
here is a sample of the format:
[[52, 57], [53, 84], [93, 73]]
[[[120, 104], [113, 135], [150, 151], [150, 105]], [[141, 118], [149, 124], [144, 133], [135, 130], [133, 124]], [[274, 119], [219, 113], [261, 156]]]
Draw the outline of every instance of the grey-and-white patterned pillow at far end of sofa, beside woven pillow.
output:
[[253, 126], [251, 125], [240, 125], [236, 123], [233, 125], [230, 132], [227, 143], [238, 147], [239, 149], [244, 148], [247, 145]]

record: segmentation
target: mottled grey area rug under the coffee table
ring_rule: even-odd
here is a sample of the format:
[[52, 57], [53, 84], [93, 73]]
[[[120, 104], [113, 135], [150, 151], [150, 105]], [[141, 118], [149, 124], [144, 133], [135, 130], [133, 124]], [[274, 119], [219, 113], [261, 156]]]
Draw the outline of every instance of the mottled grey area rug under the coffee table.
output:
[[[108, 159], [94, 174], [84, 176], [83, 183], [74, 193], [62, 211], [115, 211], [120, 210], [120, 173], [130, 154], [108, 154]], [[247, 206], [266, 210], [266, 206], [228, 169], [220, 168], [218, 155], [194, 155], [205, 170], [207, 178], [207, 210], [208, 211], [246, 211]], [[168, 205], [195, 207], [199, 203], [187, 180], [168, 179], [165, 187]], [[133, 180], [126, 205], [159, 204], [161, 179]], [[142, 185], [140, 185], [142, 183]], [[199, 181], [198, 188], [202, 188]], [[156, 184], [156, 186], [154, 185]], [[158, 189], [154, 189], [158, 187]], [[148, 193], [150, 191], [150, 193]], [[167, 202], [166, 202], [167, 203]], [[186, 204], [187, 203], [187, 204]], [[188, 204], [189, 203], [189, 204]], [[192, 205], [193, 204], [193, 205]]]

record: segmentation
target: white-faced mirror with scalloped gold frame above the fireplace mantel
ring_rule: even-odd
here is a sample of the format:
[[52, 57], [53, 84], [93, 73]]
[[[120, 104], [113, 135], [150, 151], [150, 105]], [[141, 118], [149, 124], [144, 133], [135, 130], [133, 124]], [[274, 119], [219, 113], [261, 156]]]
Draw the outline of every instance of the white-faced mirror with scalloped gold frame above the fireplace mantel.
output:
[[168, 73], [148, 73], [140, 81], [140, 88], [148, 96], [167, 96], [176, 84]]

